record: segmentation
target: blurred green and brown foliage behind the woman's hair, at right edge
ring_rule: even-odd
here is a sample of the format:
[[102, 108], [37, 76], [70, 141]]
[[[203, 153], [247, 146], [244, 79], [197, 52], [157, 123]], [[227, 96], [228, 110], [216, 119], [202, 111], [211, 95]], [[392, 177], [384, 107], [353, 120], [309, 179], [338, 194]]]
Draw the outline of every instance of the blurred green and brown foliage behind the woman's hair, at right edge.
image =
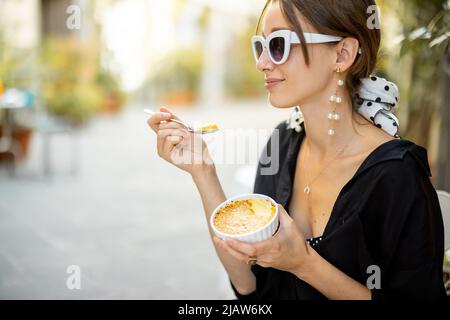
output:
[[[404, 133], [422, 145], [428, 145], [432, 118], [442, 98], [439, 87], [445, 59], [448, 59], [450, 23], [448, 0], [394, 1], [404, 40], [400, 59], [408, 61], [409, 72], [400, 77], [407, 98], [408, 126]], [[395, 58], [395, 57], [392, 57]], [[398, 73], [398, 70], [391, 70]]]

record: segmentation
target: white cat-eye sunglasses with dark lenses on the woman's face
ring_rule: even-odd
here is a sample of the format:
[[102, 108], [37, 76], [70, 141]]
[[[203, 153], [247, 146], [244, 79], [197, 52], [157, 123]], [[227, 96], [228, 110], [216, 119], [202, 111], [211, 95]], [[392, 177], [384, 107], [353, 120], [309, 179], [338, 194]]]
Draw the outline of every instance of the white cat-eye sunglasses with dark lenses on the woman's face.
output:
[[[343, 38], [320, 33], [303, 33], [305, 43], [327, 43], [339, 42]], [[270, 60], [275, 64], [283, 64], [289, 57], [292, 44], [300, 44], [300, 39], [294, 31], [278, 30], [269, 34], [267, 38], [263, 36], [252, 37], [253, 55], [258, 63], [264, 48], [267, 49]]]

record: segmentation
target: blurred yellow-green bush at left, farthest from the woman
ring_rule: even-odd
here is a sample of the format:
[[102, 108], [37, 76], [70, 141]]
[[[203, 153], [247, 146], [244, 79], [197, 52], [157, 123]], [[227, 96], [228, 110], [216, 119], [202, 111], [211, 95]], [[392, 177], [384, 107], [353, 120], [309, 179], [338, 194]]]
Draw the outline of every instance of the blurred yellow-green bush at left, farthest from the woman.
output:
[[74, 38], [48, 38], [41, 55], [42, 98], [47, 110], [82, 124], [102, 111], [114, 95], [123, 103], [119, 84], [99, 65], [98, 48]]

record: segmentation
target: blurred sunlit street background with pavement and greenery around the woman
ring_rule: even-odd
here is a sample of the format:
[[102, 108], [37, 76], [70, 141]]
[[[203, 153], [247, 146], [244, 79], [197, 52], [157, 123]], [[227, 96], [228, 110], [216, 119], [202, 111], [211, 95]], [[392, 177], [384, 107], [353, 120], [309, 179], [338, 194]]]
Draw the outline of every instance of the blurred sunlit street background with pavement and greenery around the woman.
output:
[[[227, 196], [251, 192], [291, 112], [268, 104], [252, 57], [264, 3], [0, 0], [0, 299], [234, 298], [194, 184], [157, 156], [142, 109], [259, 130], [256, 153], [217, 165]], [[399, 85], [401, 136], [446, 191], [449, 3], [379, 0], [376, 71]]]

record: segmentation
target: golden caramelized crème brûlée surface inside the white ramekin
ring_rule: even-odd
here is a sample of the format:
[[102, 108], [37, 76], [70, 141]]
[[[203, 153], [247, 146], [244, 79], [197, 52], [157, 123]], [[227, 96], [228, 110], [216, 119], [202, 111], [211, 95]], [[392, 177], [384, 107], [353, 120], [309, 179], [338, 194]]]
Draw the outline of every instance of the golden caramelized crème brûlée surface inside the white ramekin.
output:
[[236, 200], [217, 212], [214, 226], [227, 234], [250, 233], [267, 225], [275, 211], [275, 205], [268, 199]]

